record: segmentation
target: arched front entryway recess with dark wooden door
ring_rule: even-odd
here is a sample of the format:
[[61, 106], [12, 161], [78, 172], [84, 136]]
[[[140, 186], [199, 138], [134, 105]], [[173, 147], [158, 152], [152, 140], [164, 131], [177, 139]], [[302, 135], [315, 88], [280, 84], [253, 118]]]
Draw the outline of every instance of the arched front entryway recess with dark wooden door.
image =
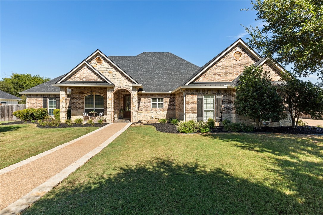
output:
[[128, 119], [132, 122], [131, 93], [126, 89], [118, 89], [113, 93], [113, 121]]

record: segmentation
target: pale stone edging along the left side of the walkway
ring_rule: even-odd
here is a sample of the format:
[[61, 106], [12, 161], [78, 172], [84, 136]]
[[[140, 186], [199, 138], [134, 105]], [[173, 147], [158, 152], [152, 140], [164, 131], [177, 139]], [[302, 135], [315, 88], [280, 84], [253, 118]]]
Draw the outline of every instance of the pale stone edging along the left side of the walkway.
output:
[[15, 163], [15, 164], [12, 164], [12, 165], [10, 165], [8, 167], [5, 167], [3, 169], [0, 169], [0, 175], [5, 174], [6, 172], [9, 172], [9, 171], [11, 171], [13, 169], [16, 169], [18, 167], [21, 167], [21, 166], [23, 166], [23, 165], [25, 165], [27, 163], [30, 163], [30, 162], [32, 162], [32, 161], [34, 161], [36, 159], [42, 158], [42, 157], [44, 157], [44, 156], [46, 156], [46, 155], [48, 155], [48, 154], [50, 154], [50, 153], [52, 153], [54, 151], [57, 151], [58, 149], [61, 149], [61, 148], [66, 147], [66, 146], [68, 146], [68, 145], [70, 145], [70, 144], [72, 144], [72, 143], [74, 143], [74, 142], [76, 142], [76, 141], [78, 141], [80, 139], [83, 139], [85, 137], [88, 137], [89, 135], [94, 134], [95, 132], [98, 132], [99, 130], [102, 130], [103, 128], [106, 128], [106, 127], [108, 127], [111, 124], [112, 123], [109, 123], [108, 125], [103, 126], [101, 128], [98, 128], [98, 129], [96, 129], [94, 131], [91, 131], [90, 133], [87, 133], [87, 134], [85, 134], [85, 135], [83, 135], [83, 136], [81, 136], [79, 138], [73, 139], [73, 140], [71, 140], [71, 141], [69, 141], [67, 143], [63, 143], [63, 144], [61, 144], [61, 145], [59, 145], [59, 146], [57, 146], [55, 148], [49, 149], [47, 151], [44, 151], [42, 153], [39, 153], [38, 155], [32, 156], [30, 158], [27, 158], [26, 160], [22, 160], [22, 161], [20, 161], [18, 163]]

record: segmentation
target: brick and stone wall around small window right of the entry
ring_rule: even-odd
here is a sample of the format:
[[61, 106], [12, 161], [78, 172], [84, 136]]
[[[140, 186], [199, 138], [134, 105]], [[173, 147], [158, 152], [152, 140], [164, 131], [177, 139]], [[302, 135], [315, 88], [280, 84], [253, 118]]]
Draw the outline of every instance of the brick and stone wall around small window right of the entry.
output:
[[[162, 97], [163, 108], [151, 108], [151, 98]], [[174, 94], [139, 94], [138, 95], [138, 120], [175, 118]]]

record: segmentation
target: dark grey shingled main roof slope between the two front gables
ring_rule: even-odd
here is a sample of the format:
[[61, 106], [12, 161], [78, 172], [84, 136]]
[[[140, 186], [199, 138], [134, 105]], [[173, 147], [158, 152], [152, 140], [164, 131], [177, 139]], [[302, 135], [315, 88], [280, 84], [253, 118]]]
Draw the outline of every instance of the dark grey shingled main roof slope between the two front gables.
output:
[[109, 56], [144, 92], [169, 92], [179, 87], [200, 67], [170, 52], [143, 52], [137, 56]]

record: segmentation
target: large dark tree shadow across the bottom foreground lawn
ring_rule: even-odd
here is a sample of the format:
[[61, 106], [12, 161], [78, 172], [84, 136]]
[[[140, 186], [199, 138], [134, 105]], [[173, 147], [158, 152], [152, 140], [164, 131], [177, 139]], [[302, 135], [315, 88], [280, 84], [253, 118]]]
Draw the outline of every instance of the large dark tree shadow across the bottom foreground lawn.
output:
[[91, 175], [86, 182], [70, 181], [26, 213], [285, 214], [311, 210], [276, 189], [221, 169], [205, 170], [197, 163], [154, 159], [117, 170], [115, 175]]

